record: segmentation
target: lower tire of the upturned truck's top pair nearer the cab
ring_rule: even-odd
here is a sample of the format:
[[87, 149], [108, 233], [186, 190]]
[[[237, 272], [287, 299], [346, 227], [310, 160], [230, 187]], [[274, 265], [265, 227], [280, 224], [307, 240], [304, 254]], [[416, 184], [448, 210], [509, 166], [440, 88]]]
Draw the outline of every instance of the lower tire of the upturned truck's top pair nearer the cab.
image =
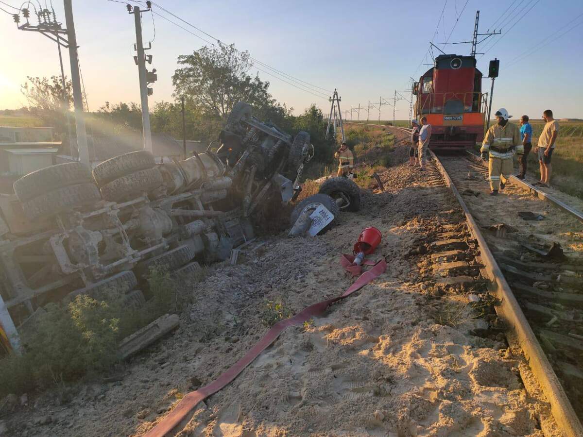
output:
[[147, 168], [114, 179], [101, 186], [101, 197], [110, 202], [129, 200], [158, 188], [163, 182], [160, 170], [156, 167]]

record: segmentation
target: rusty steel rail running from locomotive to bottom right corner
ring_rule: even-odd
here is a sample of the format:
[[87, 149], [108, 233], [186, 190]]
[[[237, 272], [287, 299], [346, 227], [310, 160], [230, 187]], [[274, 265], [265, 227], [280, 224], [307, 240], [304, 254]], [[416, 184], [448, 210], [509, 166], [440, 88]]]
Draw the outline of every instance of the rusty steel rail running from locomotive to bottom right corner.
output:
[[[567, 394], [564, 392], [559, 378], [557, 378], [549, 360], [540, 347], [540, 344], [536, 339], [531, 326], [526, 320], [522, 309], [518, 305], [518, 301], [514, 297], [514, 293], [512, 293], [504, 274], [500, 270], [496, 259], [494, 259], [486, 240], [480, 232], [479, 225], [470, 213], [468, 206], [459, 194], [458, 189], [455, 187], [454, 182], [451, 177], [449, 177], [449, 174], [441, 164], [439, 158], [431, 150], [429, 150], [429, 154], [435, 161], [438, 170], [441, 172], [445, 184], [454, 193], [455, 198], [462, 207], [463, 213], [468, 222], [469, 231], [477, 241], [480, 249], [480, 257], [484, 263], [484, 268], [481, 269], [482, 274], [490, 280], [489, 288], [496, 294], [501, 302], [500, 305], [496, 306], [496, 313], [505, 322], [505, 325], [510, 331], [510, 334], [507, 333], [509, 343], [518, 343], [522, 348], [522, 351], [524, 351], [532, 372], [549, 401], [551, 412], [561, 431], [567, 436], [583, 437], [583, 426], [581, 425], [577, 414], [575, 414], [575, 410], [573, 409]], [[518, 178], [515, 179], [520, 181]], [[530, 184], [526, 185], [535, 189]]]

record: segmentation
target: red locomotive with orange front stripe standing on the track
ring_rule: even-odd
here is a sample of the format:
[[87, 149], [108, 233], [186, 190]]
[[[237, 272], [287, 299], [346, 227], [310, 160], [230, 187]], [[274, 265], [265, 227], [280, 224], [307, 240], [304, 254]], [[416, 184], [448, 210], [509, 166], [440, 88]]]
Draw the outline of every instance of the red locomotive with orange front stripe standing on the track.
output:
[[415, 115], [432, 126], [430, 149], [473, 147], [484, 138], [487, 94], [473, 56], [440, 55], [413, 84]]

